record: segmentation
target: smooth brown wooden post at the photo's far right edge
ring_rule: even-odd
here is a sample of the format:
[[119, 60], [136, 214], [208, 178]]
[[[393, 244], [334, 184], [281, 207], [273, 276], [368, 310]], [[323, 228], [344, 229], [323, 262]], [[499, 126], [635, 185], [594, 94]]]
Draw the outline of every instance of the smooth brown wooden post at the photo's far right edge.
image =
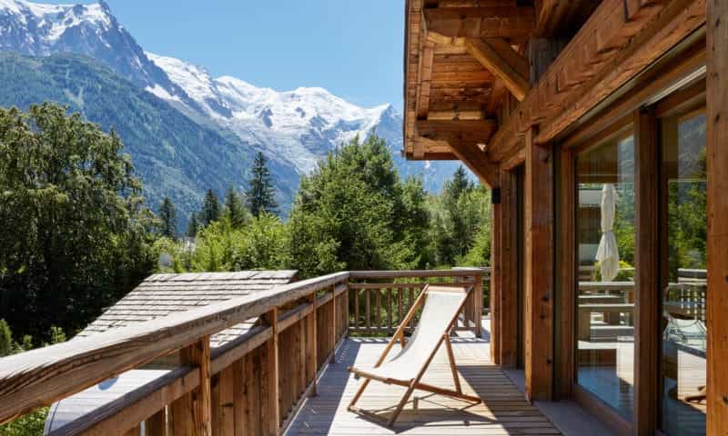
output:
[[707, 434], [728, 433], [728, 4], [708, 2], [708, 416]]

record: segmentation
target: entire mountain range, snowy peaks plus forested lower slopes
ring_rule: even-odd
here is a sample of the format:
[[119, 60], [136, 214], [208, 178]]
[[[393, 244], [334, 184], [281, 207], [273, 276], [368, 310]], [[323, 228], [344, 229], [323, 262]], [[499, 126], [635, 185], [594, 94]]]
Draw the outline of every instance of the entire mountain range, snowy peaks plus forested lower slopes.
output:
[[[235, 77], [212, 77], [202, 66], [145, 52], [103, 1], [92, 5], [41, 5], [0, 0], [0, 50], [39, 58], [52, 56], [48, 62], [37, 61], [42, 66], [38, 74], [48, 74], [47, 83], [36, 82], [23, 92], [24, 76], [16, 75], [17, 84], [3, 81], [2, 104], [23, 106], [56, 100], [70, 104], [106, 129], [114, 126], [144, 177], [152, 205], [170, 195], [181, 202], [182, 216], [197, 207], [209, 187], [219, 193], [227, 184], [241, 189], [249, 163], [242, 156], [258, 150], [267, 154], [275, 167], [284, 211], [292, 201], [300, 175], [311, 171], [319, 159], [355, 135], [365, 137], [376, 131], [386, 138], [399, 172], [421, 175], [430, 191], [439, 190], [455, 167], [455, 163], [410, 163], [399, 157], [402, 119], [389, 104], [362, 108], [323, 88], [279, 92]], [[68, 54], [91, 58], [108, 71]], [[5, 56], [2, 62], [7, 73], [14, 62], [20, 64], [18, 71], [25, 71], [34, 61]], [[60, 64], [65, 65], [67, 78], [58, 75], [63, 71]], [[81, 71], [94, 73], [84, 77], [77, 74]], [[38, 74], [30, 75], [37, 78]], [[125, 95], [111, 93], [94, 94], [94, 104], [88, 105], [78, 93], [90, 97], [91, 78], [102, 76], [108, 82], [105, 86], [119, 82], [129, 92], [126, 97], [136, 99], [137, 104], [129, 106]], [[63, 87], [53, 88], [56, 85]], [[139, 102], [144, 102], [144, 108]], [[161, 125], [129, 123], [125, 118], [132, 107], [140, 111], [133, 119], [145, 118], [145, 110], [153, 107], [153, 119], [171, 117], [174, 121], [167, 124], [185, 124], [186, 134]], [[210, 135], [216, 139], [210, 139]], [[238, 157], [230, 160], [228, 153]], [[187, 154], [207, 158], [180, 157]], [[220, 170], [221, 164], [234, 168]], [[159, 168], [167, 171], [159, 172]]]

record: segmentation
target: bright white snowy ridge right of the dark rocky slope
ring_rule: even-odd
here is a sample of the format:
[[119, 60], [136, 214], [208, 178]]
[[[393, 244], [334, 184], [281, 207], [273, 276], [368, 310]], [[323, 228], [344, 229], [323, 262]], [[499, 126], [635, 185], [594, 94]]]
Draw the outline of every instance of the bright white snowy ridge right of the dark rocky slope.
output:
[[[312, 170], [321, 157], [342, 142], [349, 142], [357, 134], [366, 137], [383, 118], [401, 123], [399, 114], [389, 104], [362, 108], [315, 87], [278, 92], [235, 77], [213, 78], [204, 67], [173, 57], [151, 53], [147, 57], [205, 115], [238, 134], [243, 141], [267, 144], [269, 154], [288, 159], [301, 173]], [[147, 90], [160, 98], [184, 104], [176, 95], [159, 88]], [[187, 110], [194, 111], [195, 107], [187, 106]], [[399, 133], [387, 139], [393, 151], [399, 151]]]

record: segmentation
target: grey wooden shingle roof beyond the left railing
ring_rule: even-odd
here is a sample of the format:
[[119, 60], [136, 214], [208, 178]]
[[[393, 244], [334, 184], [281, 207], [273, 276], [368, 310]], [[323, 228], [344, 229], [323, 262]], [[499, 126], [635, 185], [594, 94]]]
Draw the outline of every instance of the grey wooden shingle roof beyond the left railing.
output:
[[[295, 275], [296, 271], [291, 270], [154, 274], [88, 324], [78, 336], [106, 332], [252, 292], [268, 291], [291, 282]], [[210, 344], [215, 347], [228, 342], [247, 332], [256, 321], [258, 319], [254, 318], [219, 332], [211, 338]]]

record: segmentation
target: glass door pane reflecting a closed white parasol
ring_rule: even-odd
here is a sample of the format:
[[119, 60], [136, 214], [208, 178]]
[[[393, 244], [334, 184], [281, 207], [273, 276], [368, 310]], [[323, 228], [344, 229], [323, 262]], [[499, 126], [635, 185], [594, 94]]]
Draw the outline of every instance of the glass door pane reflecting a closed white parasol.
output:
[[632, 420], [634, 144], [632, 135], [577, 156], [577, 381]]

